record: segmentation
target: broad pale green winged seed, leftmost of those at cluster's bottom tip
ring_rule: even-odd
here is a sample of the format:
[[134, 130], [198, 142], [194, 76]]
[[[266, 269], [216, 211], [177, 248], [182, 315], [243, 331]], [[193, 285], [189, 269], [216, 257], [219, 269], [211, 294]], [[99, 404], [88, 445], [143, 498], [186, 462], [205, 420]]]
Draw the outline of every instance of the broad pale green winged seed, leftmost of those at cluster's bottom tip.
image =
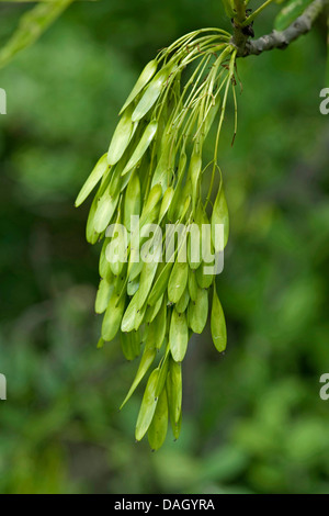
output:
[[158, 402], [156, 399], [158, 375], [159, 369], [155, 369], [149, 375], [137, 418], [135, 430], [136, 440], [143, 439], [154, 418]]

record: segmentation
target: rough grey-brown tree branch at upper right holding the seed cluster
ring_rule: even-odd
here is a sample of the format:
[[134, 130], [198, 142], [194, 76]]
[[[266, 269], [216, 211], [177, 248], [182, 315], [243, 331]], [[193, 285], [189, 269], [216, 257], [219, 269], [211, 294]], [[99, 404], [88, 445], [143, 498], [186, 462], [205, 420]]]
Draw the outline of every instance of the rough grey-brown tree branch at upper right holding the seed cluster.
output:
[[234, 36], [231, 43], [238, 48], [238, 57], [247, 57], [249, 55], [259, 55], [265, 51], [273, 48], [286, 48], [292, 42], [303, 34], [310, 31], [315, 20], [328, 4], [328, 0], [315, 0], [285, 31], [272, 31], [258, 40], [240, 40], [237, 45], [237, 38]]

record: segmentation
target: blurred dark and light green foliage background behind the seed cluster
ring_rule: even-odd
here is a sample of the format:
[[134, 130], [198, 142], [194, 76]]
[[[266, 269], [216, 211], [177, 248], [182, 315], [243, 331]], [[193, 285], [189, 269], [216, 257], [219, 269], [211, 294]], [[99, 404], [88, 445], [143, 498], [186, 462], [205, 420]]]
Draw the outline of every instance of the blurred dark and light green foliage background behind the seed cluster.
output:
[[[26, 9], [1, 3], [0, 44]], [[137, 362], [118, 341], [95, 348], [100, 248], [86, 243], [89, 206], [75, 209], [76, 194], [144, 65], [183, 33], [225, 23], [218, 0], [77, 2], [0, 71], [1, 493], [329, 493], [321, 22], [285, 52], [239, 61], [238, 135], [231, 148], [230, 108], [220, 147], [228, 348], [219, 356], [208, 330], [191, 343], [178, 442], [169, 433], [156, 453], [135, 444], [143, 391], [118, 406]]]

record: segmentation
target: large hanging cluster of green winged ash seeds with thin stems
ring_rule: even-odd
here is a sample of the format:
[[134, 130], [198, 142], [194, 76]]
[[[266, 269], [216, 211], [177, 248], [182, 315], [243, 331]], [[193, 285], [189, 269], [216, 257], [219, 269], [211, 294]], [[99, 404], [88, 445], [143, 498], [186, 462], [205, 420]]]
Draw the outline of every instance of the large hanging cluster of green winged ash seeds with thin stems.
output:
[[[253, 20], [269, 3], [271, 0], [251, 13], [248, 1], [225, 0], [232, 33], [216, 27], [193, 31], [146, 65], [120, 112], [107, 153], [76, 201], [79, 206], [98, 186], [86, 232], [89, 243], [103, 240], [95, 312], [104, 315], [98, 346], [120, 336], [125, 358], [140, 357], [122, 407], [148, 375], [135, 436], [140, 440], [147, 434], [154, 450], [166, 439], [168, 419], [174, 438], [179, 437], [181, 363], [192, 334], [203, 332], [208, 314], [216, 349], [222, 352], [226, 348], [216, 273], [205, 273], [208, 263], [203, 255], [194, 259], [190, 228], [207, 225], [208, 247], [215, 254], [227, 244], [229, 217], [218, 144], [229, 97], [235, 105], [236, 135], [237, 59], [282, 48], [283, 42], [288, 45], [307, 32], [305, 21], [310, 29], [327, 2], [305, 2], [298, 23], [287, 23], [285, 19], [291, 14], [281, 11], [281, 32], [251, 41]], [[207, 161], [204, 146], [213, 126], [216, 139], [212, 160]], [[209, 169], [211, 179], [205, 181], [204, 172]], [[216, 176], [219, 187], [215, 192]], [[206, 194], [203, 187], [208, 187]], [[134, 217], [139, 221], [137, 229]], [[150, 224], [159, 228], [151, 238], [146, 231]], [[169, 256], [161, 246], [168, 224], [181, 231], [178, 246], [174, 231], [169, 238]], [[215, 238], [217, 225], [224, 227], [219, 244]], [[140, 259], [136, 236], [150, 255], [160, 249], [160, 259]], [[125, 259], [115, 259], [118, 255]]]

